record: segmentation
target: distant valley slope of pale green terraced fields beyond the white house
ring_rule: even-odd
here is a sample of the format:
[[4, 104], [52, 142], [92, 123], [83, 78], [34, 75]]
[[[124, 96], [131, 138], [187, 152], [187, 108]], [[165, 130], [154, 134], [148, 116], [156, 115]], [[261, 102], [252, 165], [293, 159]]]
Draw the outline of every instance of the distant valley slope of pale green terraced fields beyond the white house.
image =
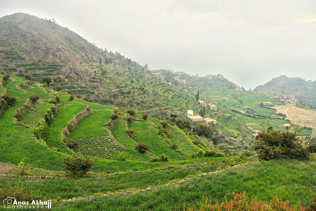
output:
[[[272, 99], [270, 95], [266, 94], [245, 90], [237, 91], [235, 90], [236, 84], [229, 82], [222, 76], [201, 78], [183, 72], [174, 74], [167, 70], [158, 72], [179, 89], [185, 90], [191, 95], [195, 95], [199, 91], [199, 100], [217, 106], [216, 111], [210, 110], [206, 105], [200, 105], [196, 99], [191, 102], [185, 96], [180, 98], [181, 101], [178, 104], [179, 106], [183, 104], [181, 107], [183, 113], [190, 109], [195, 115], [198, 115], [201, 110], [205, 109], [204, 117], [217, 121], [213, 130], [215, 130], [215, 137], [219, 140], [218, 147], [222, 150], [250, 149], [253, 146], [254, 135], [258, 131], [262, 131], [268, 126], [283, 131], [283, 124], [291, 123], [286, 115], [279, 114], [273, 108], [275, 105], [282, 105], [279, 99]], [[177, 102], [178, 98], [174, 98], [174, 100]], [[183, 114], [179, 118], [187, 119]], [[292, 125], [295, 130], [304, 127], [304, 124]], [[301, 135], [313, 133], [312, 128], [305, 128]]]

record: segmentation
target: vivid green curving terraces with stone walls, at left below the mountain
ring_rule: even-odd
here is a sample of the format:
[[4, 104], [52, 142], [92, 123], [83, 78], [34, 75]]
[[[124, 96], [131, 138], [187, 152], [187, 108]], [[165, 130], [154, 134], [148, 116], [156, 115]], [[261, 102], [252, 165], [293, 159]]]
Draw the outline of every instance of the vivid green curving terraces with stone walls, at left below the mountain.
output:
[[[155, 124], [160, 121], [152, 117], [144, 121], [142, 115], [137, 114], [139, 118], [132, 117], [121, 110], [119, 118], [112, 119], [113, 111], [117, 112], [113, 106], [76, 97], [70, 99], [69, 94], [53, 92], [42, 84], [22, 78], [9, 78], [3, 83], [2, 92], [17, 100], [16, 106], [5, 109], [0, 117], [1, 128], [5, 131], [0, 140], [1, 162], [17, 164], [24, 159], [31, 167], [61, 170], [62, 158], [76, 152], [96, 158], [93, 171], [111, 173], [161, 166], [162, 162], [158, 159], [161, 154], [168, 156], [171, 163], [186, 163], [189, 162], [189, 156], [199, 148], [186, 133], [170, 126], [173, 127], [169, 132], [170, 137], [180, 132], [180, 139], [186, 140], [177, 143], [180, 146], [177, 152], [171, 147], [174, 140], [179, 139], [177, 135], [170, 138], [172, 142], [166, 142], [156, 129]], [[39, 96], [36, 102], [28, 99], [32, 93]], [[53, 110], [56, 112], [53, 113]], [[128, 124], [129, 117], [134, 120]], [[45, 136], [39, 138], [35, 131], [40, 129], [41, 122], [45, 125]], [[128, 129], [135, 131], [133, 137], [129, 135]], [[135, 146], [142, 142], [151, 146], [149, 152], [137, 152]], [[27, 147], [24, 148], [24, 145]], [[204, 145], [206, 147], [201, 150], [213, 148], [210, 144]], [[118, 160], [121, 157], [127, 160], [121, 162]], [[154, 158], [156, 162], [148, 162]]]

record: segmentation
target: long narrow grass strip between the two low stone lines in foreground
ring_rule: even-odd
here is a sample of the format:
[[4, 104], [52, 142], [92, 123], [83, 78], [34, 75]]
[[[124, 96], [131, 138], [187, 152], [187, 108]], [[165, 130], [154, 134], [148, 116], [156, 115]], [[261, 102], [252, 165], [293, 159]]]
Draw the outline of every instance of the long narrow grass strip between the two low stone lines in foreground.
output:
[[[240, 163], [249, 162], [249, 160], [251, 159], [240, 160]], [[173, 180], [184, 179], [189, 175], [215, 171], [219, 167], [225, 168], [228, 165], [231, 165], [229, 160], [224, 159], [223, 162], [214, 161], [214, 163], [207, 164], [173, 166], [135, 173], [124, 172], [103, 177], [86, 177], [81, 179], [21, 178], [21, 185], [28, 191], [43, 190], [41, 193], [46, 198], [56, 199], [60, 197], [68, 199], [86, 194], [94, 195], [96, 193], [116, 192], [125, 189], [145, 189], [147, 187], [163, 185]], [[16, 177], [13, 180], [8, 177], [0, 177], [0, 188], [8, 186], [8, 181], [11, 181], [10, 184], [14, 184], [14, 181], [17, 180], [18, 178]]]

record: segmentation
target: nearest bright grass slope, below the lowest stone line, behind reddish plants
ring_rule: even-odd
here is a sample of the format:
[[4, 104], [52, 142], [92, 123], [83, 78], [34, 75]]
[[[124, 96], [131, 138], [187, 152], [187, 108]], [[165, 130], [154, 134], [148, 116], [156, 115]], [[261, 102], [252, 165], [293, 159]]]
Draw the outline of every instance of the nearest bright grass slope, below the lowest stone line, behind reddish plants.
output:
[[[243, 165], [220, 174], [195, 177], [183, 185], [161, 187], [135, 195], [97, 197], [55, 205], [54, 210], [183, 210], [208, 196], [212, 202], [233, 199], [232, 192], [246, 191], [248, 200], [269, 202], [275, 196], [307, 206], [316, 191], [316, 162], [272, 160]], [[57, 206], [57, 207], [56, 207]]]

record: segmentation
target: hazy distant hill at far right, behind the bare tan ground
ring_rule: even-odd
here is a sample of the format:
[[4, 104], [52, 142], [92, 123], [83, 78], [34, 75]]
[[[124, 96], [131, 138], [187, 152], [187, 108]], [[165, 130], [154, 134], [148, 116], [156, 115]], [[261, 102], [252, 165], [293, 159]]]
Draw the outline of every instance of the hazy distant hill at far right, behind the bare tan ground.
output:
[[270, 93], [272, 91], [294, 95], [303, 105], [316, 109], [316, 81], [306, 81], [303, 78], [288, 78], [285, 75], [273, 78], [264, 85], [257, 86], [253, 91]]

